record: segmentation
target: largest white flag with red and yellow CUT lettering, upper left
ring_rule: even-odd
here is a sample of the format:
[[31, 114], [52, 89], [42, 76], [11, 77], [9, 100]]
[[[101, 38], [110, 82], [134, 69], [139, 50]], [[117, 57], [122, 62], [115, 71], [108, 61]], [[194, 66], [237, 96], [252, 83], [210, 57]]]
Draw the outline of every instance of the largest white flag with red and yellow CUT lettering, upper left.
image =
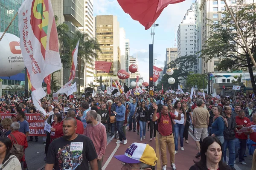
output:
[[24, 0], [18, 17], [21, 53], [35, 88], [32, 99], [35, 107], [45, 113], [38, 102], [46, 95], [42, 82], [62, 67], [51, 1]]

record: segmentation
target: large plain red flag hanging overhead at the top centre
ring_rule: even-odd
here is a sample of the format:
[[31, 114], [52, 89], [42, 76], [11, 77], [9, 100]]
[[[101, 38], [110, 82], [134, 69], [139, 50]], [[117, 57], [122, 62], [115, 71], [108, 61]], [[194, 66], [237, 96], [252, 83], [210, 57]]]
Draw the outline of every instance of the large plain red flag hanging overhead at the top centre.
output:
[[184, 0], [117, 0], [119, 5], [132, 19], [139, 21], [148, 29], [169, 4]]

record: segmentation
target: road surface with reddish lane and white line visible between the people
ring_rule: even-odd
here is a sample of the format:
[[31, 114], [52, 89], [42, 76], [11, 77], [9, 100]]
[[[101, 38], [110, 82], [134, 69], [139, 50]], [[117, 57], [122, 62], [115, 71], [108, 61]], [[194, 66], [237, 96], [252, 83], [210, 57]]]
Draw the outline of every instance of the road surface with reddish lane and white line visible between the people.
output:
[[[104, 156], [103, 160], [103, 167], [102, 170], [113, 170], [115, 167], [116, 170], [121, 169], [122, 165], [118, 160], [113, 158], [113, 155], [124, 154], [127, 147], [133, 142], [140, 142], [139, 135], [137, 133], [126, 129], [126, 136], [128, 139], [127, 145], [123, 144], [116, 144], [116, 139], [111, 138], [110, 133], [108, 133], [108, 147]], [[158, 161], [156, 165], [156, 170], [161, 170], [161, 158], [160, 158], [160, 146], [158, 140], [156, 141], [149, 141], [149, 132], [146, 132], [146, 139], [143, 140], [142, 143], [148, 143], [153, 147], [157, 153]], [[158, 135], [157, 135], [158, 137]], [[195, 154], [197, 153], [194, 136], [192, 133], [189, 135], [189, 144], [184, 143], [185, 151], [180, 150], [180, 146], [178, 147], [178, 153], [175, 155], [175, 163], [177, 166], [177, 170], [188, 170], [194, 164], [195, 161], [199, 161], [199, 159], [195, 158]], [[29, 139], [29, 138], [28, 138]], [[34, 139], [35, 140], [35, 139]], [[44, 170], [44, 148], [45, 145], [43, 144], [42, 137], [39, 137], [38, 142], [29, 142], [29, 147], [26, 149], [25, 156], [26, 162], [30, 170]], [[246, 151], [247, 158], [245, 158], [245, 162], [247, 163], [246, 166], [240, 164], [238, 159], [236, 160], [237, 163], [235, 164], [236, 170], [250, 170], [252, 166], [252, 156], [248, 154], [248, 150]], [[228, 155], [228, 152], [227, 152]], [[169, 160], [169, 153], [167, 153], [167, 160]], [[171, 170], [170, 162], [168, 161], [167, 169]]]

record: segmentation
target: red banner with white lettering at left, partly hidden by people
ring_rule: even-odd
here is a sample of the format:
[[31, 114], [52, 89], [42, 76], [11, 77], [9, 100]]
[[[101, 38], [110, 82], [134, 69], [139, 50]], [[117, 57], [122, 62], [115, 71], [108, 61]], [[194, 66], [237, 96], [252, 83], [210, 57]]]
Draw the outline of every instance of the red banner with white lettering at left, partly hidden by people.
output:
[[[40, 113], [27, 113], [26, 119], [29, 122], [29, 136], [46, 136], [44, 130], [44, 119]], [[0, 114], [1, 119], [12, 119], [12, 114]]]

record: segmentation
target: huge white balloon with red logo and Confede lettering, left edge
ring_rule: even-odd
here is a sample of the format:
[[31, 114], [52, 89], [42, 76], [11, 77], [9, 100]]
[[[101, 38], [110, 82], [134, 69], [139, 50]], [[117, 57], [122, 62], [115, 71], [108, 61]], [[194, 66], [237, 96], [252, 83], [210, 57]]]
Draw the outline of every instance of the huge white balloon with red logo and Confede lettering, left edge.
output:
[[[2, 36], [0, 32], [0, 37]], [[30, 50], [29, 46], [28, 49]], [[0, 41], [1, 62], [0, 62], [0, 76], [9, 77], [20, 73], [24, 70], [25, 65], [20, 49], [20, 38], [6, 33]]]

